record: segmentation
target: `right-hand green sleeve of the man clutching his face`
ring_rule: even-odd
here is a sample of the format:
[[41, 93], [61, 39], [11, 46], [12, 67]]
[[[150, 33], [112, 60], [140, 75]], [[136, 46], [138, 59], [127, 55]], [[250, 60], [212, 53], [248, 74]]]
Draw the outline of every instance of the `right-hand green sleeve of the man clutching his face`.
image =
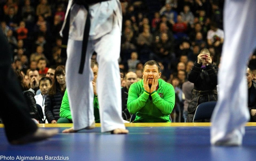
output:
[[164, 95], [162, 98], [154, 91], [151, 93], [153, 104], [164, 114], [168, 115], [172, 112], [175, 104], [175, 91], [171, 84], [163, 86]]

